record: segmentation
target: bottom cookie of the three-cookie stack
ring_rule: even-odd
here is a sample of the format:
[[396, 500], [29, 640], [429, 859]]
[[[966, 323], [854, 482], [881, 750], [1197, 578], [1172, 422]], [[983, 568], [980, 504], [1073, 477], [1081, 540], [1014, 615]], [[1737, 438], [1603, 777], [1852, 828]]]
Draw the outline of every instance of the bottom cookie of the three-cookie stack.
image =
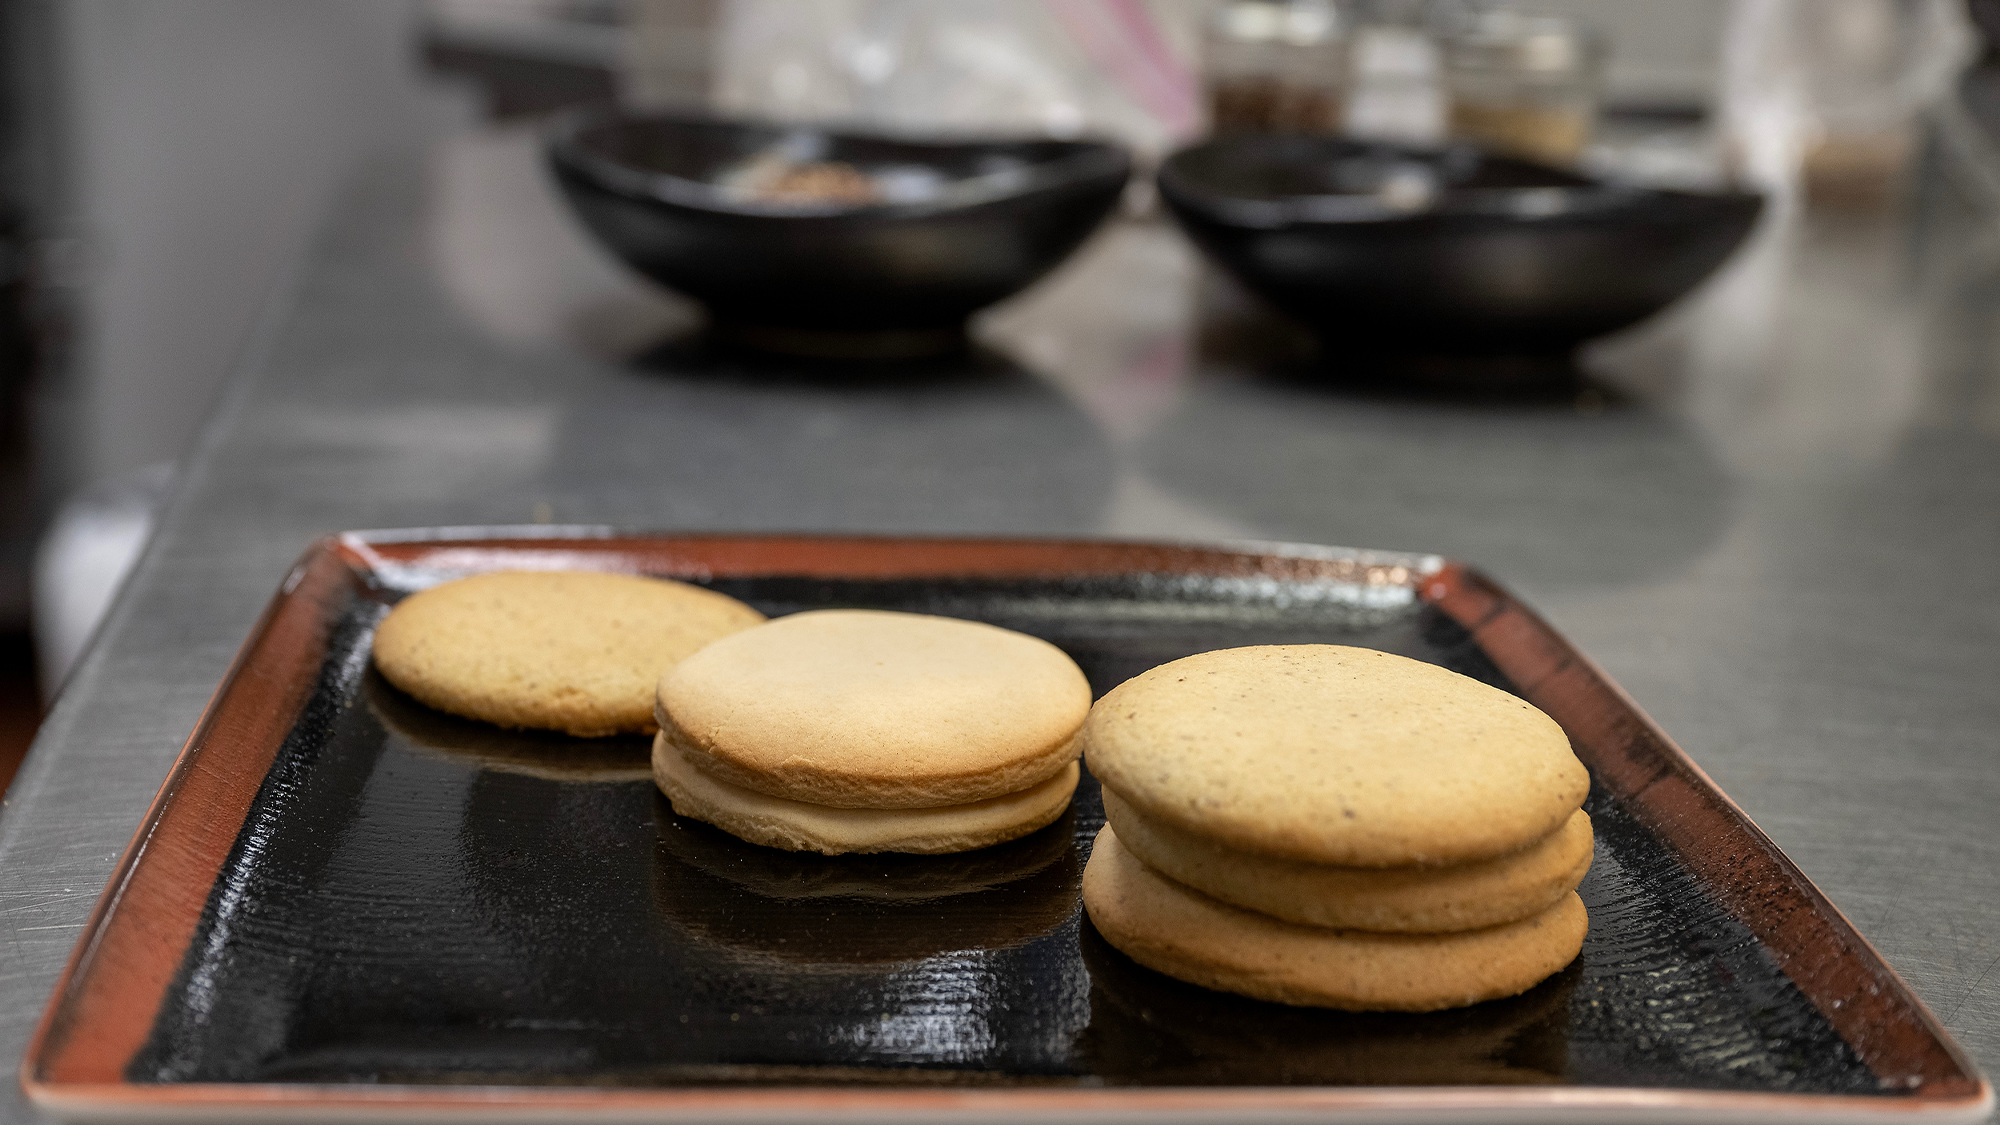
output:
[[1104, 941], [1168, 977], [1260, 1001], [1438, 1011], [1524, 993], [1576, 959], [1576, 893], [1540, 915], [1464, 933], [1368, 933], [1280, 921], [1210, 899], [1138, 861], [1106, 827], [1084, 865]]

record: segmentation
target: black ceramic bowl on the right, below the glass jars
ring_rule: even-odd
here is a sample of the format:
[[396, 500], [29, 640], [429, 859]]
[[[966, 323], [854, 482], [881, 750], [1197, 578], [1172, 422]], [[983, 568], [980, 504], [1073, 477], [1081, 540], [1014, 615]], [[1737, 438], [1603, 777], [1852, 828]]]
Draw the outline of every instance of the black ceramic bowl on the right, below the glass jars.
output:
[[1474, 148], [1240, 136], [1176, 152], [1188, 234], [1328, 348], [1564, 354], [1658, 312], [1762, 198], [1586, 180]]

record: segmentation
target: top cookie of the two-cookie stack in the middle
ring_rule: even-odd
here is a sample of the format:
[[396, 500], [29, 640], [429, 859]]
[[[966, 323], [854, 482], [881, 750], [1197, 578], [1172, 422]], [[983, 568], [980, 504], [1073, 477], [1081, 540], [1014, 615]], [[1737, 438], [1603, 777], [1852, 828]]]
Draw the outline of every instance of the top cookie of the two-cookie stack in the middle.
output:
[[1048, 641], [950, 617], [794, 613], [660, 679], [660, 729], [732, 785], [838, 809], [1020, 793], [1076, 759], [1090, 683]]

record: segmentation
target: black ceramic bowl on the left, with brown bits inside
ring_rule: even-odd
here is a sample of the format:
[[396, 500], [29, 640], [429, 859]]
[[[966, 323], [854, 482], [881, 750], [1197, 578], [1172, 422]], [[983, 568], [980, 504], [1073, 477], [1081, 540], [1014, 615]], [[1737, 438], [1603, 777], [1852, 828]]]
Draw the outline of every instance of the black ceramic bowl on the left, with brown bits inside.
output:
[[[910, 350], [1054, 268], [1118, 202], [1130, 158], [1062, 140], [918, 142], [586, 112], [554, 128], [576, 214], [718, 324], [780, 350]], [[786, 176], [806, 188], [774, 188]], [[834, 194], [814, 194], [832, 180]], [[860, 184], [874, 198], [840, 196]]]

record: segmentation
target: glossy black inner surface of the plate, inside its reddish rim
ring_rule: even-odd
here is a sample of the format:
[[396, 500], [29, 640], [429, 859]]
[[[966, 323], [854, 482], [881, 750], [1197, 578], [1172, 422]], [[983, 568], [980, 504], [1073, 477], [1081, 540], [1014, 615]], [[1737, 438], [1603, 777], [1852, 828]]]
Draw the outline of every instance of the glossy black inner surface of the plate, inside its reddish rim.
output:
[[[1326, 641], [1512, 689], [1412, 591], [1222, 577], [716, 583], [780, 615], [946, 613], [1062, 645], [1096, 691]], [[1208, 993], [1076, 903], [1096, 787], [1026, 841], [824, 859], [676, 819], [646, 747], [430, 713], [368, 667], [354, 587], [130, 1083], [1596, 1085], [1878, 1093], [1640, 819], [1592, 793], [1590, 937], [1524, 997], [1344, 1015]], [[1894, 1095], [1884, 1095], [1894, 1097]]]

